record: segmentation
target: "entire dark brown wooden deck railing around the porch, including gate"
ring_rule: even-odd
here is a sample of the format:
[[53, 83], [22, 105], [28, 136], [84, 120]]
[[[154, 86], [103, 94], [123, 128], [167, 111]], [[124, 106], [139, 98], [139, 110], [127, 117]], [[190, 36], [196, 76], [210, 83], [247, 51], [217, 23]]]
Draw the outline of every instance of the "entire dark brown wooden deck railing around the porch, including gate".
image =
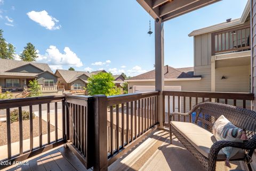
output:
[[[164, 126], [168, 126], [167, 114], [188, 112], [199, 102], [225, 102], [250, 108], [250, 101], [253, 100], [251, 93], [222, 92], [163, 91], [163, 97]], [[158, 98], [159, 92], [154, 91], [109, 97], [66, 95], [0, 100], [0, 112], [5, 112], [7, 129], [6, 158], [1, 161], [22, 161], [65, 144], [86, 168], [106, 169], [156, 129]], [[13, 108], [17, 108], [19, 113], [19, 141], [16, 142], [19, 151], [15, 154], [10, 122]], [[27, 140], [23, 139], [22, 133], [22, 110], [29, 112], [27, 149], [24, 148]], [[38, 127], [34, 125], [33, 113], [37, 113]], [[175, 119], [193, 121], [193, 117], [177, 116]], [[53, 130], [52, 125], [55, 125]], [[38, 137], [33, 135], [35, 128], [39, 129]], [[37, 141], [38, 146], [35, 146]], [[2, 165], [0, 169], [4, 167]]]

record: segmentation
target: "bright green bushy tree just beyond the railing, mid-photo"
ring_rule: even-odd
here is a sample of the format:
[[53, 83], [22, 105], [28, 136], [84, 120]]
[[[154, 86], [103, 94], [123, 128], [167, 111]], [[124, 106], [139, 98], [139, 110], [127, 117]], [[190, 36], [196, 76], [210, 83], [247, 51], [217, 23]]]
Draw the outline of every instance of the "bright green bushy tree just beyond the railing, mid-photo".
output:
[[96, 75], [92, 75], [88, 79], [89, 83], [87, 85], [87, 92], [89, 95], [119, 95], [120, 89], [117, 88], [114, 84], [114, 78], [111, 74], [101, 72]]

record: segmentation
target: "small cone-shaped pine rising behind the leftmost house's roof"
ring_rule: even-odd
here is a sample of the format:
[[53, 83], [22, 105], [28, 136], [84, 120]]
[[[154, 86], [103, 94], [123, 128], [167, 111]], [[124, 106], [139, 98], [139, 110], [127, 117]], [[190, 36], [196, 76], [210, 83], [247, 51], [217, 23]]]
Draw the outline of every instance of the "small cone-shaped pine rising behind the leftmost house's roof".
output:
[[34, 62], [37, 58], [36, 48], [30, 42], [27, 43], [27, 46], [24, 47], [23, 52], [20, 54], [22, 61]]

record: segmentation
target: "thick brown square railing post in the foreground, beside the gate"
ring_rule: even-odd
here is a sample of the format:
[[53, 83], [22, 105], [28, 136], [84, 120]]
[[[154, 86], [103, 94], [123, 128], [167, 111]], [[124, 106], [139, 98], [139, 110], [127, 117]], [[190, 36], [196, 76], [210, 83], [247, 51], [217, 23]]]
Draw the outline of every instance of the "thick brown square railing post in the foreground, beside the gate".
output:
[[107, 96], [94, 98], [94, 166], [93, 170], [108, 170]]

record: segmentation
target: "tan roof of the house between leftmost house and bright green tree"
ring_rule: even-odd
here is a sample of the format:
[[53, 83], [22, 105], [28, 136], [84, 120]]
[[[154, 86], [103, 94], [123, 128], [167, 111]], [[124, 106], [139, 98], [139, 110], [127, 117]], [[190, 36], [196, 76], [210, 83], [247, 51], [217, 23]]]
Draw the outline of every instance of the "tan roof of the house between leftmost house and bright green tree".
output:
[[[105, 70], [93, 71], [93, 72], [85, 72], [85, 71], [69, 71], [69, 70], [56, 70], [59, 72], [62, 78], [67, 82], [73, 82], [79, 79], [79, 76], [86, 75], [87, 77], [91, 77], [92, 75], [98, 74], [100, 72], [106, 72]], [[82, 80], [82, 79], [80, 79]], [[84, 81], [85, 82], [85, 81]]]

